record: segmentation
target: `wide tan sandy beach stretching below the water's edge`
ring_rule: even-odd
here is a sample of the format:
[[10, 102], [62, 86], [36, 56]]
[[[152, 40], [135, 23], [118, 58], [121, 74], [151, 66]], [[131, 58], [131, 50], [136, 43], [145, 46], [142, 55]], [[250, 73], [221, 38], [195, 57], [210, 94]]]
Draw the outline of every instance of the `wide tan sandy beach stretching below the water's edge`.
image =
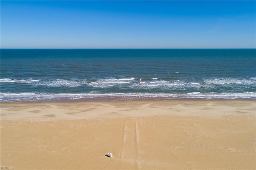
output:
[[[1, 103], [1, 167], [255, 169], [255, 101]], [[113, 153], [113, 158], [105, 155]]]

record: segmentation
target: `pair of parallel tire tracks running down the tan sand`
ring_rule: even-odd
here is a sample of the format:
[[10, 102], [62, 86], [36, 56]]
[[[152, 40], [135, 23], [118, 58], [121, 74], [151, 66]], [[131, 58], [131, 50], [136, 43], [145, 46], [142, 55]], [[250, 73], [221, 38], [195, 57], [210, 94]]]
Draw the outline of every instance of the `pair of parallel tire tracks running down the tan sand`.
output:
[[[127, 119], [124, 125], [123, 150], [121, 155], [122, 169], [138, 169], [138, 126], [135, 120]], [[129, 167], [127, 163], [130, 164]]]

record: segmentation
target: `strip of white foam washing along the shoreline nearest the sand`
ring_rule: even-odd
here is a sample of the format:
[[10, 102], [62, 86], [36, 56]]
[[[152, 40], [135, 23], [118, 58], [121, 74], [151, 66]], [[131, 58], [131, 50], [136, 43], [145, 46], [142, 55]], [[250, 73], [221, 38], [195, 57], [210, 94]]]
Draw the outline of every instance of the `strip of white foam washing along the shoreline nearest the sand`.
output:
[[237, 99], [237, 98], [255, 98], [256, 92], [244, 93], [201, 93], [192, 92], [185, 94], [170, 94], [170, 93], [0, 93], [2, 101], [42, 101], [47, 99], [91, 99], [97, 97], [123, 97], [122, 99], [136, 99], [136, 98], [151, 98], [151, 97], [165, 97], [166, 99]]

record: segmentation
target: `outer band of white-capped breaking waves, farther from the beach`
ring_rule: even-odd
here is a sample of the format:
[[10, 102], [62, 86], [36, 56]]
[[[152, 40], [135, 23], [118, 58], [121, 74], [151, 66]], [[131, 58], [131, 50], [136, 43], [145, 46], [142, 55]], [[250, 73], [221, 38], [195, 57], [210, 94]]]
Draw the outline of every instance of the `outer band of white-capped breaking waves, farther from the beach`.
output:
[[32, 86], [46, 87], [96, 87], [96, 88], [125, 88], [129, 89], [255, 89], [256, 78], [234, 79], [234, 78], [214, 78], [214, 79], [177, 79], [177, 78], [106, 78], [106, 79], [0, 79], [1, 83], [29, 83]]

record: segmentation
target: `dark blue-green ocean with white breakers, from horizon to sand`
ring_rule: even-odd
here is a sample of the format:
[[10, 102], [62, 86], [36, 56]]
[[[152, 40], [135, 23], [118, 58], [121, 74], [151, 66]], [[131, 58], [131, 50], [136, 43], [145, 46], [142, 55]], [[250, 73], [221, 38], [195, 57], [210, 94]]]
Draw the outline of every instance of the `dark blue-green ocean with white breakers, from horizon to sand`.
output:
[[0, 102], [256, 100], [256, 49], [1, 49]]

